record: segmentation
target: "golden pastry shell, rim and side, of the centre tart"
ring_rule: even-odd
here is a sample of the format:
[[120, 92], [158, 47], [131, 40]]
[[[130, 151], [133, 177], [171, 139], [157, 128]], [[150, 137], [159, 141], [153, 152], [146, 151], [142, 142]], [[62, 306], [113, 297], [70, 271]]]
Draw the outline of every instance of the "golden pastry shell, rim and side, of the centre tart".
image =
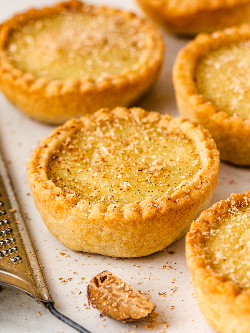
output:
[[[48, 179], [49, 161], [63, 140], [81, 129], [85, 132], [95, 124], [100, 128], [102, 124], [122, 121], [126, 122], [125, 128], [130, 128], [129, 124], [139, 129], [154, 126], [185, 136], [184, 141], [192, 142], [199, 156], [198, 171], [190, 180], [181, 182], [171, 195], [159, 194], [155, 199], [131, 199], [125, 203], [121, 199], [121, 203], [114, 201], [110, 204], [79, 198], [74, 191], [64, 191]], [[139, 135], [139, 140], [143, 139]], [[60, 242], [76, 251], [137, 257], [162, 250], [188, 230], [191, 221], [211, 200], [217, 184], [218, 167], [215, 143], [209, 132], [197, 124], [140, 108], [117, 107], [101, 109], [92, 116], [70, 120], [55, 129], [34, 150], [27, 172], [36, 206], [48, 229]], [[131, 168], [134, 168], [132, 163]], [[122, 182], [124, 174], [121, 176], [123, 178], [120, 175], [117, 178]], [[112, 183], [114, 181], [116, 179], [112, 179]]]

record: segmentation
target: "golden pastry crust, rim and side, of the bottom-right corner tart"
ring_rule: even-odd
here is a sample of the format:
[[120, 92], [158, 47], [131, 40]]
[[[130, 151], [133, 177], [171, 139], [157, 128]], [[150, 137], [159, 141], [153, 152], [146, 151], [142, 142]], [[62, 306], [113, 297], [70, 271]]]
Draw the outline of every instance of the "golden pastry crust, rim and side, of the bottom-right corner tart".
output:
[[[200, 310], [220, 333], [250, 331], [250, 290], [215, 271], [204, 246], [211, 230], [216, 233], [221, 218], [242, 206], [249, 209], [250, 191], [231, 194], [202, 212], [186, 235], [186, 257]], [[248, 248], [249, 250], [249, 248]]]

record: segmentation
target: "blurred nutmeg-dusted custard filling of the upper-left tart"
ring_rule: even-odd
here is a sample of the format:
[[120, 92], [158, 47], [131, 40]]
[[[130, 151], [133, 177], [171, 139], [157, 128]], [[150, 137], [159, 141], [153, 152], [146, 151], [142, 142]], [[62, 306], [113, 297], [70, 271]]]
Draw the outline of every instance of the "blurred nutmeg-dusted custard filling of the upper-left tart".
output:
[[[35, 77], [110, 77], [147, 57], [150, 38], [139, 20], [95, 9], [65, 11], [23, 23], [5, 47], [8, 60]], [[139, 60], [140, 59], [140, 60]]]

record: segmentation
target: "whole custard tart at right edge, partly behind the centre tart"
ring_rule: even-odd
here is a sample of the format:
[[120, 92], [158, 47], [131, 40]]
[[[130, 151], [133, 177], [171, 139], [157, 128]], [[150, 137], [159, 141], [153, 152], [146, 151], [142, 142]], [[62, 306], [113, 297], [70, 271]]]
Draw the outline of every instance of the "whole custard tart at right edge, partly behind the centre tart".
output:
[[250, 165], [250, 25], [199, 34], [173, 70], [180, 114], [206, 127], [220, 158]]

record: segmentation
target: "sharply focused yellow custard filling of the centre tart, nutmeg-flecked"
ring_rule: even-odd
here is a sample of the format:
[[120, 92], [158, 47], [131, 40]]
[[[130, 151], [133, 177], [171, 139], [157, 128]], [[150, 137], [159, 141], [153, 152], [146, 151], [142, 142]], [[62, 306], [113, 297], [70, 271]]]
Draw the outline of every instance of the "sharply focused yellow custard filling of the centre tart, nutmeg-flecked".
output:
[[47, 175], [80, 199], [125, 204], [170, 195], [200, 167], [194, 144], [183, 134], [117, 119], [64, 141], [50, 157]]

